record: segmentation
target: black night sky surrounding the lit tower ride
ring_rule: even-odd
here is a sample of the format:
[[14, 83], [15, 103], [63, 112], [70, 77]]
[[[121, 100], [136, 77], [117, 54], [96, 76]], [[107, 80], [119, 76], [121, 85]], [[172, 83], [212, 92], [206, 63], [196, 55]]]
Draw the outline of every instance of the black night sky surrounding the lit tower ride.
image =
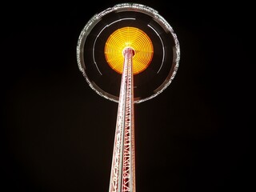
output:
[[[118, 104], [87, 85], [76, 46], [119, 2], [2, 6], [1, 191], [108, 191]], [[170, 23], [181, 60], [170, 86], [135, 106], [137, 191], [248, 191], [251, 6], [138, 3]]]

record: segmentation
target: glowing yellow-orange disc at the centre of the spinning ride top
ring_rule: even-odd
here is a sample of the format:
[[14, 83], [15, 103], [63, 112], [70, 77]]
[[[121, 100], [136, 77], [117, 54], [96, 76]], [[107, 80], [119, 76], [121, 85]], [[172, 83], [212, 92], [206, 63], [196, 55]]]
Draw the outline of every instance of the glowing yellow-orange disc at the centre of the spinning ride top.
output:
[[146, 70], [153, 58], [153, 44], [146, 33], [130, 26], [115, 30], [106, 40], [104, 51], [106, 62], [110, 67], [122, 74], [123, 50], [126, 47], [131, 47], [135, 53], [133, 57], [133, 73], [138, 74]]

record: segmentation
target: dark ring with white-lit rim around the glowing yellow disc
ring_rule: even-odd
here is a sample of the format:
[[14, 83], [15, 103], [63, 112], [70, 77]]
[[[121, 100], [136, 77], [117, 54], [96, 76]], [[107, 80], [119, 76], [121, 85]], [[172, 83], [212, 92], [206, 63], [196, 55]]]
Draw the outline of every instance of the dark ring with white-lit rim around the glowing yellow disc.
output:
[[180, 60], [174, 30], [158, 11], [149, 6], [122, 3], [90, 18], [78, 38], [78, 67], [97, 94], [118, 102], [122, 74], [113, 70], [106, 61], [105, 48], [110, 35], [126, 27], [141, 30], [150, 38], [154, 48], [152, 60], [146, 68], [134, 73], [134, 103], [144, 102], [166, 90], [177, 73]]

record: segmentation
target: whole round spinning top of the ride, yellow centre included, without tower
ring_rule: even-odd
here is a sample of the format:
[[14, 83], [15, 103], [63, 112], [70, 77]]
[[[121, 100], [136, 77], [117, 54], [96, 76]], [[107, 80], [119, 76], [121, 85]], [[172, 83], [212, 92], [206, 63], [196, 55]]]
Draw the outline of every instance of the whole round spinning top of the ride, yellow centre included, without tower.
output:
[[178, 38], [158, 11], [137, 3], [103, 10], [82, 29], [77, 60], [90, 87], [103, 98], [118, 102], [126, 47], [134, 50], [134, 103], [166, 90], [178, 70]]

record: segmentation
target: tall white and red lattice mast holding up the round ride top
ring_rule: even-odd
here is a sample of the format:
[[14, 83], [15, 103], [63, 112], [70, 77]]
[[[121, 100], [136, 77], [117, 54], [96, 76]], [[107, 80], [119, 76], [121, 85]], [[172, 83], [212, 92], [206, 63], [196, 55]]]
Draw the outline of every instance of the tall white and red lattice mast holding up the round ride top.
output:
[[109, 192], [135, 192], [134, 79], [130, 47], [123, 51], [124, 65], [114, 136]]

